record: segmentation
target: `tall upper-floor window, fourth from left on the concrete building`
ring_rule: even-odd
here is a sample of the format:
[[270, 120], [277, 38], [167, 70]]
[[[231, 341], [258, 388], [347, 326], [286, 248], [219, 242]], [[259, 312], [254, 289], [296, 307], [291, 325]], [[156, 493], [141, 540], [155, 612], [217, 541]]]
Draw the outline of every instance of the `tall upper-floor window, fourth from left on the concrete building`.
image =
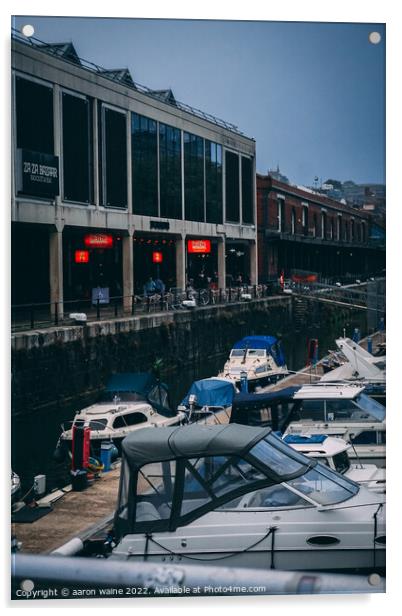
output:
[[137, 113], [131, 115], [133, 212], [158, 215], [157, 123]]

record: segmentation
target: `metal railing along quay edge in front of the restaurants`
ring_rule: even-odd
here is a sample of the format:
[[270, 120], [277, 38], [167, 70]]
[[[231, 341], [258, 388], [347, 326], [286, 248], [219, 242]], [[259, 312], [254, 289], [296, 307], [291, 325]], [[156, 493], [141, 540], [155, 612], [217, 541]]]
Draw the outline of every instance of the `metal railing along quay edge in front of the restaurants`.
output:
[[[194, 310], [206, 306], [233, 304], [270, 297], [280, 292], [276, 282], [263, 285], [243, 285], [225, 289], [172, 288], [165, 293], [114, 296], [109, 300], [76, 299], [61, 302], [14, 304], [11, 306], [12, 332], [84, 324], [121, 317]], [[193, 300], [193, 301], [189, 301]], [[74, 316], [72, 316], [74, 315]]]

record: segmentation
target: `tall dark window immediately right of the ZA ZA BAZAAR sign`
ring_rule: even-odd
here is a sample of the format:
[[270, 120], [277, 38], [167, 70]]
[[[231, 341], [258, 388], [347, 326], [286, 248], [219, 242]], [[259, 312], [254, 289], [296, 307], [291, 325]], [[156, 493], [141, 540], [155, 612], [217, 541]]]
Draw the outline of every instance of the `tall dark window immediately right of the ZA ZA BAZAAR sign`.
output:
[[66, 93], [62, 100], [64, 199], [90, 203], [93, 195], [91, 101]]

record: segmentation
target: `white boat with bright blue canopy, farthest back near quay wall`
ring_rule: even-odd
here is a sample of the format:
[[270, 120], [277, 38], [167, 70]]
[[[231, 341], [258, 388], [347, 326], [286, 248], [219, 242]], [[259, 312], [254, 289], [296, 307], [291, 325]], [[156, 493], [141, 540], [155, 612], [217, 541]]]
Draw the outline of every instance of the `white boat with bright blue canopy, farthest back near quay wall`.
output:
[[274, 336], [246, 336], [233, 345], [220, 377], [239, 385], [243, 378], [248, 388], [276, 383], [288, 376], [280, 341]]

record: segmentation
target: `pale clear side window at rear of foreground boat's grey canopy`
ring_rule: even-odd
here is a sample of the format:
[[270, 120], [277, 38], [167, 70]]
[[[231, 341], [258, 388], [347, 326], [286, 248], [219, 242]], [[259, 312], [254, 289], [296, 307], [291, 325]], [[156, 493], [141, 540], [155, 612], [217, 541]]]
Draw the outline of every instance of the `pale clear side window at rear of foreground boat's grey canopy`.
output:
[[141, 467], [137, 479], [137, 523], [170, 518], [175, 473], [174, 461], [153, 462]]

